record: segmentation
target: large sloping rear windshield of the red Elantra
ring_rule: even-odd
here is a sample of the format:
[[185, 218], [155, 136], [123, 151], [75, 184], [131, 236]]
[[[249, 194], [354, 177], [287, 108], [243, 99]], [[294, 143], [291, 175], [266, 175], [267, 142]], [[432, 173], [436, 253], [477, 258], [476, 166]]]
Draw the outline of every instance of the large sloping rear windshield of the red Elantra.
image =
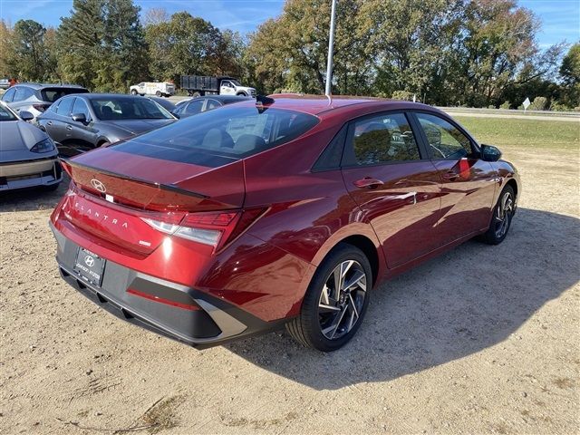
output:
[[222, 107], [114, 145], [119, 151], [217, 167], [294, 140], [318, 123], [298, 111]]

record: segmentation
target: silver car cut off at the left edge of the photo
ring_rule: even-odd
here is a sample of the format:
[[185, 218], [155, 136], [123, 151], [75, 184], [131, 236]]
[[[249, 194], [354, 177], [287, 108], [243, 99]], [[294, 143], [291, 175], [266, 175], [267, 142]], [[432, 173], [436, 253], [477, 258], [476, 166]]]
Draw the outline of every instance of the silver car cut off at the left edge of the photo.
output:
[[41, 187], [57, 189], [63, 179], [58, 150], [46, 133], [30, 124], [33, 114], [18, 116], [0, 102], [0, 192]]

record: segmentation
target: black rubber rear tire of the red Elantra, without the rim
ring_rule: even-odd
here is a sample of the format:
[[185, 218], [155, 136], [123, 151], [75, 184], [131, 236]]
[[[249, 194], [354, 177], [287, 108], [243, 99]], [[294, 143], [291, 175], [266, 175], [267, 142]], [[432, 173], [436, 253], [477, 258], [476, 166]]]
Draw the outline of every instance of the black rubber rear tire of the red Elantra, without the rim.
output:
[[[362, 304], [362, 310], [359, 320], [354, 324], [353, 329], [343, 335], [337, 340], [329, 340], [324, 337], [318, 320], [318, 303], [324, 283], [328, 276], [333, 272], [334, 267], [346, 260], [356, 260], [364, 269], [367, 280], [367, 291]], [[372, 289], [372, 268], [367, 257], [357, 247], [352, 245], [341, 244], [333, 249], [333, 251], [324, 258], [324, 261], [316, 270], [313, 280], [308, 286], [301, 312], [301, 322], [303, 324], [304, 332], [307, 333], [309, 342], [312, 343], [315, 349], [323, 352], [332, 352], [349, 342], [353, 335], [358, 331], [364, 320], [364, 314], [370, 301], [370, 293]]]

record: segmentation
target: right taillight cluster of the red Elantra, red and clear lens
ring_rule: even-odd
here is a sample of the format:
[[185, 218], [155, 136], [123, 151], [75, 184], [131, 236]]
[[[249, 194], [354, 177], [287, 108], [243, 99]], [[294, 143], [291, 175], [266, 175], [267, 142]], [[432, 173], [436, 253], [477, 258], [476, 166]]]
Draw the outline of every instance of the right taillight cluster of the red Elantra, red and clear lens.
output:
[[265, 208], [248, 208], [237, 211], [189, 213], [179, 225], [151, 218], [141, 219], [162, 233], [187, 238], [218, 250], [240, 236], [265, 211]]

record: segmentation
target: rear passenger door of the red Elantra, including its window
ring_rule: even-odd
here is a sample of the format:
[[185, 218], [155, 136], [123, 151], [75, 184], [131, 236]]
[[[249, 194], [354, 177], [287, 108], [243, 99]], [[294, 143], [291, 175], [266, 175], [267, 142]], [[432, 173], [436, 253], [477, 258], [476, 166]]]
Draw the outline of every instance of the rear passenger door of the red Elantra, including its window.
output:
[[346, 189], [381, 240], [390, 268], [438, 247], [439, 175], [405, 113], [351, 122], [342, 166]]

